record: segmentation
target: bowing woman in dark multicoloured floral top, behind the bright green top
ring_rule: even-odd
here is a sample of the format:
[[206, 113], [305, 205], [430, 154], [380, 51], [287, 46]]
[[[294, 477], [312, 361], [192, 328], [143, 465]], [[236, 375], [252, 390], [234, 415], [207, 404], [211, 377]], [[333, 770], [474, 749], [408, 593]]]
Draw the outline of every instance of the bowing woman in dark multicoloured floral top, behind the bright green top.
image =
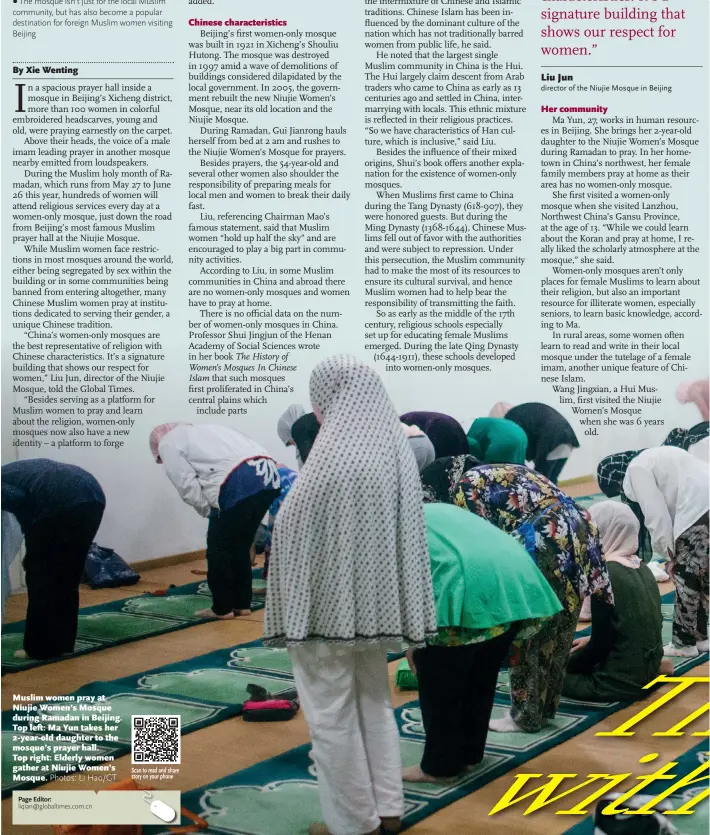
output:
[[539, 731], [557, 712], [565, 668], [585, 597], [613, 602], [594, 523], [551, 481], [522, 466], [485, 464], [469, 470], [453, 500], [515, 536], [562, 604], [510, 664], [510, 714], [495, 731]]

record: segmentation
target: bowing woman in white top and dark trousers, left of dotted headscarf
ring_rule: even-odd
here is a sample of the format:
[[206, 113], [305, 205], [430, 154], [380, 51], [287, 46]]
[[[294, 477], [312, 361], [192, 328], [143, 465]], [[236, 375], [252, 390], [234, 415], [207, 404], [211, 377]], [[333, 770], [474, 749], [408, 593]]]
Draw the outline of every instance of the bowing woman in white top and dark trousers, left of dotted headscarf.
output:
[[251, 614], [251, 545], [280, 491], [276, 462], [256, 441], [216, 424], [156, 426], [150, 451], [185, 504], [209, 518], [212, 608], [196, 614], [220, 620]]

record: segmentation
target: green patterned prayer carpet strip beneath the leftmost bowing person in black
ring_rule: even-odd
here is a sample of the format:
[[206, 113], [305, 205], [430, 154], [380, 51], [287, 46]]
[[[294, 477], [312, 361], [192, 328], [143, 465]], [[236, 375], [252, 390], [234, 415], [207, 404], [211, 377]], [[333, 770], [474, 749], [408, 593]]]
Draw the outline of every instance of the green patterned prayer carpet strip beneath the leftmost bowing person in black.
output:
[[[252, 610], [264, 608], [266, 581], [262, 570], [254, 569], [254, 599]], [[31, 658], [15, 658], [15, 651], [22, 649], [25, 622], [9, 623], [2, 630], [2, 674], [17, 673], [45, 664], [55, 664], [67, 658], [76, 658], [89, 652], [152, 638], [188, 626], [209, 623], [209, 620], [195, 616], [195, 612], [211, 605], [211, 595], [206, 582], [187, 583], [169, 589], [164, 596], [154, 597], [150, 593], [85, 606], [79, 610], [79, 631], [74, 652], [51, 661], [35, 661]]]

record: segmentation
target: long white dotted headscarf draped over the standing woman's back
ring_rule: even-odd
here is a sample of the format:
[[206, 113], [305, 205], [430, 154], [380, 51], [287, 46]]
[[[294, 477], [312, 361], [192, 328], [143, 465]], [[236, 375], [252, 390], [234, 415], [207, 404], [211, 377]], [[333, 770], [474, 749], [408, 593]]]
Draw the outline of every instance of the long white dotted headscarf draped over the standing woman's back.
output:
[[436, 632], [424, 504], [394, 406], [349, 356], [310, 390], [322, 425], [276, 517], [264, 643], [421, 646]]

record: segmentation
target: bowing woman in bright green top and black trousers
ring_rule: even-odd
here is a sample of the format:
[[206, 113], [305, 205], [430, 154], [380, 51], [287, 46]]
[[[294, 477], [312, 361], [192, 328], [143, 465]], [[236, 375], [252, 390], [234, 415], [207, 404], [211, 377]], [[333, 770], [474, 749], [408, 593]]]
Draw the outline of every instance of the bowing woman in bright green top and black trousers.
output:
[[438, 634], [410, 657], [426, 733], [409, 782], [457, 777], [483, 760], [498, 671], [513, 641], [561, 610], [513, 537], [446, 504], [425, 507]]

